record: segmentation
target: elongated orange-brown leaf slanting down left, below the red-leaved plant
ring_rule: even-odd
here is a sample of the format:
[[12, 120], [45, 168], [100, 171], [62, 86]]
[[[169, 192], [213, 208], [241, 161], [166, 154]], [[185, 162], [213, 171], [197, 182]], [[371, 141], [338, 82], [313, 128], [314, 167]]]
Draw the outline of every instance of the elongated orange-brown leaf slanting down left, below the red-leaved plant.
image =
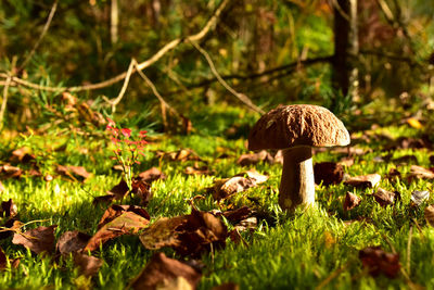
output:
[[89, 240], [85, 251], [94, 251], [100, 244], [123, 235], [133, 235], [148, 226], [149, 219], [133, 213], [125, 212], [101, 227]]

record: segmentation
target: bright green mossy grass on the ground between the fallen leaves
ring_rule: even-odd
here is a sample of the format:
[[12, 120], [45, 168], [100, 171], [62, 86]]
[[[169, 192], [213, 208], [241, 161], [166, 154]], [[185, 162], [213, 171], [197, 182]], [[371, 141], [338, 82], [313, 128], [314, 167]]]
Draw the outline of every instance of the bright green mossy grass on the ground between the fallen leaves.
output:
[[[381, 207], [376, 204], [371, 197], [373, 189], [353, 189], [341, 184], [319, 186], [316, 209], [298, 210], [293, 215], [284, 214], [277, 206], [281, 165], [259, 163], [241, 167], [235, 164], [238, 156], [246, 152], [244, 126], [255, 119], [255, 115], [247, 114], [244, 122], [240, 121], [243, 114], [245, 113], [240, 110], [217, 111], [208, 116], [209, 119], [216, 118], [216, 125], [206, 133], [157, 137], [157, 141], [149, 144], [145, 161], [138, 168], [144, 171], [151, 166], [159, 166], [167, 175], [167, 179], [152, 184], [154, 196], [146, 207], [152, 220], [161, 216], [190, 213], [187, 200], [197, 194], [206, 197], [195, 203], [203, 211], [219, 206], [225, 209], [228, 203], [233, 203], [235, 206], [248, 205], [260, 212], [258, 227], [254, 231], [242, 232], [247, 245], [235, 244], [228, 239], [225, 249], [202, 256], [205, 268], [199, 289], [210, 289], [226, 281], [233, 281], [241, 289], [311, 289], [321, 283], [327, 289], [408, 289], [409, 281], [404, 275], [396, 279], [371, 277], [362, 268], [358, 252], [369, 245], [381, 245], [387, 252], [396, 251], [399, 253], [403, 269], [412, 283], [425, 286], [427, 289], [434, 288], [434, 229], [426, 225], [423, 217], [426, 204], [421, 207], [410, 206], [411, 192], [431, 191], [431, 181], [418, 179], [409, 184], [405, 177], [410, 164], [403, 164], [399, 165], [403, 178], [395, 182], [383, 178], [380, 185], [384, 189], [400, 192], [401, 200], [395, 206]], [[196, 122], [200, 117], [197, 116]], [[225, 130], [234, 119], [239, 122], [241, 137], [227, 139]], [[204, 127], [205, 122], [197, 127]], [[394, 138], [420, 134], [408, 125], [380, 128], [379, 131], [387, 131]], [[17, 140], [3, 141], [3, 160], [16, 147]], [[67, 144], [65, 151], [55, 151], [64, 143]], [[94, 234], [105, 207], [93, 206], [92, 199], [104, 194], [120, 180], [120, 175], [111, 169], [113, 161], [105, 141], [79, 136], [67, 139], [51, 134], [35, 136], [27, 144], [43, 156], [39, 161], [43, 173], [52, 173], [54, 164], [71, 164], [85, 166], [93, 176], [85, 184], [61, 177], [49, 184], [42, 178], [7, 179], [2, 181], [5, 191], [1, 193], [1, 200], [13, 199], [18, 207], [18, 218], [23, 223], [48, 219], [28, 225], [26, 229], [37, 225], [56, 224], [58, 238], [62, 232], [74, 229]], [[414, 155], [417, 164], [430, 166], [430, 152], [426, 150], [396, 150], [391, 152], [391, 161], [375, 162], [375, 156], [386, 154], [382, 151], [384, 146], [381, 141], [357, 144], [372, 151], [356, 156], [355, 164], [345, 168], [346, 174], [355, 176], [379, 173], [384, 177], [392, 167], [397, 166], [393, 159], [406, 154]], [[168, 162], [154, 157], [154, 150], [173, 151], [180, 148], [193, 149], [215, 175], [188, 176], [183, 174], [183, 169], [194, 162]], [[84, 149], [88, 151], [86, 154]], [[217, 159], [221, 152], [229, 154], [229, 157]], [[333, 151], [327, 151], [316, 154], [314, 162], [337, 161], [341, 156]], [[213, 185], [214, 179], [231, 177], [251, 167], [267, 173], [270, 179], [237, 194], [222, 205], [206, 196], [205, 189]], [[360, 205], [347, 213], [342, 209], [346, 191], [362, 198]], [[431, 197], [427, 203], [432, 201]], [[133, 203], [135, 200], [127, 199], [125, 202]], [[366, 217], [369, 222], [344, 223], [358, 217]], [[412, 235], [409, 253], [410, 227]], [[10, 257], [21, 259], [17, 269], [8, 268], [1, 273], [0, 289], [75, 289], [86, 285], [101, 289], [124, 289], [152, 255], [151, 251], [142, 247], [138, 237], [120, 237], [94, 253], [104, 260], [104, 265], [95, 277], [87, 280], [79, 275], [71, 257], [52, 261], [51, 257], [36, 256], [24, 248], [12, 244], [10, 238], [1, 240], [0, 245]], [[163, 251], [168, 256], [180, 259], [170, 249]], [[328, 280], [329, 278], [332, 279]]]

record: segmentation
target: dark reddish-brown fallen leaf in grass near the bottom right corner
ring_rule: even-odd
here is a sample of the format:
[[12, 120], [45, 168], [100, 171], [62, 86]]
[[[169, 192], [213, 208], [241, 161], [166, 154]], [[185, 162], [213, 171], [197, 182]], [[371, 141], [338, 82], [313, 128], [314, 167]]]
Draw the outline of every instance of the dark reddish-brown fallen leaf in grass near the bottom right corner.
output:
[[400, 270], [399, 255], [386, 253], [380, 247], [368, 247], [359, 251], [359, 259], [372, 276], [384, 274], [388, 278], [398, 277]]

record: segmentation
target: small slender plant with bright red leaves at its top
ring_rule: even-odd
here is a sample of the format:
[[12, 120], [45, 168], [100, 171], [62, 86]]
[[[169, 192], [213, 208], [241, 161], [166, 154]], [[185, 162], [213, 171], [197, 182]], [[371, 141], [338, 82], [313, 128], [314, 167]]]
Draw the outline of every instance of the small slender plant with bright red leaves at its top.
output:
[[107, 119], [106, 130], [115, 146], [113, 149], [114, 156], [117, 163], [122, 166], [124, 180], [127, 182], [129, 190], [132, 189], [133, 166], [140, 164], [140, 156], [144, 156], [144, 146], [148, 143], [145, 130], [140, 130], [135, 134], [129, 128], [120, 128], [116, 126], [113, 119]]

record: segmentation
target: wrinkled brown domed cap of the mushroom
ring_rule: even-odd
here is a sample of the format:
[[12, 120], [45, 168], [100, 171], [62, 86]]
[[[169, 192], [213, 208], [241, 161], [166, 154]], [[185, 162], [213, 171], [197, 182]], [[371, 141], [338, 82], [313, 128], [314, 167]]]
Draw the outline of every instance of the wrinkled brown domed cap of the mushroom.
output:
[[344, 124], [328, 109], [279, 105], [255, 124], [248, 135], [248, 150], [347, 146], [349, 141]]

